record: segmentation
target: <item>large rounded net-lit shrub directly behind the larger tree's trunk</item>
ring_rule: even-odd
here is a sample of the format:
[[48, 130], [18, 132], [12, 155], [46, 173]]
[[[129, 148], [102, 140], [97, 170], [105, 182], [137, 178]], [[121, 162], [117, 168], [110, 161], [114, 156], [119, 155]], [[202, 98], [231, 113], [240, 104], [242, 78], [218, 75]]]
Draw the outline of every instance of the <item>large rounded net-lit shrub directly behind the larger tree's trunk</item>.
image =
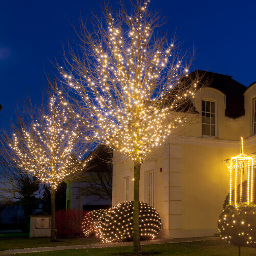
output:
[[[158, 212], [140, 202], [140, 239], [154, 239], [161, 228]], [[133, 201], [120, 203], [106, 210], [101, 218], [102, 242], [133, 241]]]

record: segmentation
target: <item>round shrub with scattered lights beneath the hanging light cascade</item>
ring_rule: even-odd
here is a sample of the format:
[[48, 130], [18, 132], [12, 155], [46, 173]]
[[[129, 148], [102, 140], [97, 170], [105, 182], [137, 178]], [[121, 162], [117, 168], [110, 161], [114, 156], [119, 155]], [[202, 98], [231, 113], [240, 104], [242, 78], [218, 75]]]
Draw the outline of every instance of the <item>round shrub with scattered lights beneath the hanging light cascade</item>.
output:
[[228, 205], [219, 217], [220, 236], [235, 246], [256, 247], [256, 205]]

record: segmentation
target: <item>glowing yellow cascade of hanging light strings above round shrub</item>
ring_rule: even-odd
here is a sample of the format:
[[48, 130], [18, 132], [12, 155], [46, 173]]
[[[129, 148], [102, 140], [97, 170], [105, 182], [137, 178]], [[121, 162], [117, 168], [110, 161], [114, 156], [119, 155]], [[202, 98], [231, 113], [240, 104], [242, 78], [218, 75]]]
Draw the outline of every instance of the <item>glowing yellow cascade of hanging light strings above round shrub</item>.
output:
[[[230, 190], [229, 190], [229, 204], [238, 206], [237, 200], [240, 198], [239, 203], [242, 203], [242, 181], [245, 170], [247, 170], [247, 204], [252, 203], [253, 200], [253, 165], [255, 159], [244, 154], [243, 138], [241, 138], [241, 154], [236, 157], [231, 157], [227, 162], [227, 167], [230, 173]], [[240, 179], [240, 195], [238, 195], [237, 185]], [[232, 202], [232, 184], [234, 184], [234, 202]]]

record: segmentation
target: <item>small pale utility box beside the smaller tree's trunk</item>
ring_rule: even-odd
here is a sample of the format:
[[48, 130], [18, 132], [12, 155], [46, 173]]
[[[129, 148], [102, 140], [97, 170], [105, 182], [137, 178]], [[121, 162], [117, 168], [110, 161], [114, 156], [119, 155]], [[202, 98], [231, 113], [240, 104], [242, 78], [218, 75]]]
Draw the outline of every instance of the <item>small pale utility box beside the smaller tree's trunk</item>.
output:
[[29, 238], [50, 238], [51, 220], [50, 215], [30, 216]]

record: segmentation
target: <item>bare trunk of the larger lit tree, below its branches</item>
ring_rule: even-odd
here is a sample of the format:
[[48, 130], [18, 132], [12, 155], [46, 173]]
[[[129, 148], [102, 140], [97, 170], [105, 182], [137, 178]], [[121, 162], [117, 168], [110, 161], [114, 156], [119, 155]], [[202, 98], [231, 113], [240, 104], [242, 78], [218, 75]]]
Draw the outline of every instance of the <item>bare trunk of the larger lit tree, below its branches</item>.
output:
[[134, 254], [141, 255], [140, 245], [140, 161], [134, 161], [133, 246]]

